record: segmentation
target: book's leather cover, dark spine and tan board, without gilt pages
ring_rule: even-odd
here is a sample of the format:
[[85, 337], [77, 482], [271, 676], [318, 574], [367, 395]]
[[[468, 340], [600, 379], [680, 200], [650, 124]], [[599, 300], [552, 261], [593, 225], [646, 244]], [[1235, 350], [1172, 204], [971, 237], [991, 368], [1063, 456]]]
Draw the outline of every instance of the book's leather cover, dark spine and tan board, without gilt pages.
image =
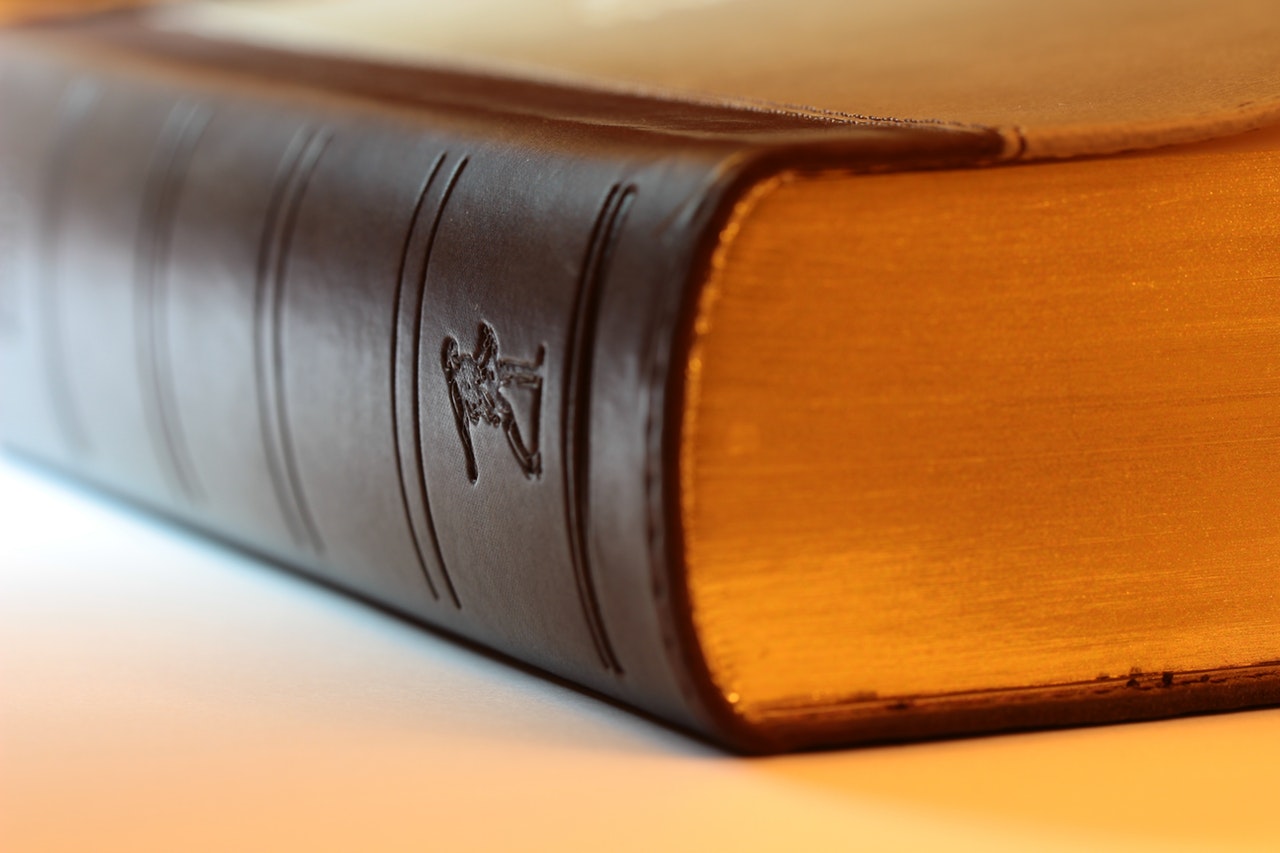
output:
[[0, 33], [8, 446], [740, 749], [1275, 701], [1267, 670], [755, 731], [696, 651], [675, 461], [748, 188], [1265, 126], [1266, 4], [562, 3], [524, 37], [517, 4], [279, 5]]

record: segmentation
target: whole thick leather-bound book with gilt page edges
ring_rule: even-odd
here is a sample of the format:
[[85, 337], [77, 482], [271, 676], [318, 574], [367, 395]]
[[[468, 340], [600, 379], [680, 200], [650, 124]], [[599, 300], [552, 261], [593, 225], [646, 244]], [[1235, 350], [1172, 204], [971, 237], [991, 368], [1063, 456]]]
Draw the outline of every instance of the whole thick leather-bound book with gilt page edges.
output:
[[1277, 123], [1248, 0], [12, 26], [4, 441], [740, 751], [1274, 703]]

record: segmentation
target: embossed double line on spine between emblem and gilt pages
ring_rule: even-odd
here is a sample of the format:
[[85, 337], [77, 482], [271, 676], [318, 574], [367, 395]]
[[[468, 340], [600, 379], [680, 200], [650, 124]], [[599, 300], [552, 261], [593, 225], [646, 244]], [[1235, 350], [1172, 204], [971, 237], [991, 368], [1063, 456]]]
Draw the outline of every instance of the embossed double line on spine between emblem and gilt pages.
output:
[[600, 306], [600, 288], [608, 274], [609, 260], [618, 234], [635, 197], [635, 187], [614, 184], [609, 188], [591, 228], [591, 238], [582, 259], [577, 301], [570, 325], [570, 351], [564, 364], [564, 402], [561, 416], [561, 457], [564, 460], [564, 496], [567, 501], [568, 540], [573, 557], [573, 576], [582, 605], [582, 615], [591, 631], [600, 663], [622, 674], [604, 615], [595, 592], [590, 558], [590, 452], [591, 452], [591, 379], [594, 373], [595, 327]]

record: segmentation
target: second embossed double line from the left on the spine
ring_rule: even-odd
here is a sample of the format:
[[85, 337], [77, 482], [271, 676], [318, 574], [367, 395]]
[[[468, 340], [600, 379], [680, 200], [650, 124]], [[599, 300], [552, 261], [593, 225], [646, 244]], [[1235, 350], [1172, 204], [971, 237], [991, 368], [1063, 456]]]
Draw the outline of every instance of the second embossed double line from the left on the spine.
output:
[[173, 487], [188, 501], [201, 489], [178, 418], [178, 394], [169, 350], [169, 287], [165, 268], [173, 216], [196, 145], [209, 126], [207, 109], [179, 102], [169, 113], [143, 190], [134, 277], [138, 379], [156, 457]]

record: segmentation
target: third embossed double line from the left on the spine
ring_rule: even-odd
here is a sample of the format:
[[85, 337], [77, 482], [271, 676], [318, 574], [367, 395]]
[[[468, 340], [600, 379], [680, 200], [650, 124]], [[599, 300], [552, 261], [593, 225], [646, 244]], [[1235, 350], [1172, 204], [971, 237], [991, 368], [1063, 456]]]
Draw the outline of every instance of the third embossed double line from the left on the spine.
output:
[[253, 292], [253, 364], [257, 371], [259, 421], [271, 487], [294, 542], [316, 553], [324, 551], [324, 543], [307, 508], [289, 434], [280, 323], [293, 229], [307, 183], [329, 140], [329, 133], [300, 129], [280, 159], [262, 229]]

